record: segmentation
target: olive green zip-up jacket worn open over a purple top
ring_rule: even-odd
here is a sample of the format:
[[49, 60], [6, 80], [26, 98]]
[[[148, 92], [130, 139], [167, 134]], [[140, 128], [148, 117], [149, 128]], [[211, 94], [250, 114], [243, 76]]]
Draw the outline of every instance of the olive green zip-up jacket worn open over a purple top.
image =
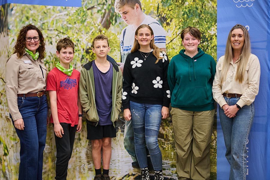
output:
[[[112, 62], [110, 62], [112, 63]], [[111, 121], [115, 127], [115, 121], [121, 112], [122, 105], [122, 72], [116, 63], [113, 64], [113, 83], [112, 83], [112, 102], [113, 108], [111, 113]], [[95, 103], [95, 82], [92, 67], [92, 61], [82, 66], [80, 82], [79, 82], [79, 95], [82, 104], [82, 109], [86, 113], [87, 123], [91, 125], [98, 125], [99, 117]]]

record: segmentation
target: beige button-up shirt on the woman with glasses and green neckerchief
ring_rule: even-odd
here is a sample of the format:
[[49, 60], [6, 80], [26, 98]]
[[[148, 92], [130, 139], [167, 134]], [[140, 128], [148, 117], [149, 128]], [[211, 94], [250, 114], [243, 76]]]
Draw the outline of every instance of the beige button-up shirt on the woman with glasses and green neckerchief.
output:
[[43, 60], [33, 60], [25, 53], [22, 58], [17, 53], [6, 63], [6, 96], [12, 119], [22, 118], [18, 109], [17, 94], [35, 93], [46, 90], [46, 67]]

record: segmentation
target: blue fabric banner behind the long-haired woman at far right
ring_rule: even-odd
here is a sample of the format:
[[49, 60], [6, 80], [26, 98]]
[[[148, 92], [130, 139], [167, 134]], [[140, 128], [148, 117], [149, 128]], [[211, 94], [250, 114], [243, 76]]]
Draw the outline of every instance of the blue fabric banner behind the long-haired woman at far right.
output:
[[[217, 59], [224, 55], [230, 29], [245, 26], [250, 34], [251, 53], [260, 61], [259, 94], [255, 99], [255, 118], [247, 141], [247, 180], [270, 179], [270, 63], [269, 63], [269, 0], [217, 1]], [[268, 103], [269, 102], [269, 103]], [[217, 115], [217, 179], [229, 179], [230, 166]]]

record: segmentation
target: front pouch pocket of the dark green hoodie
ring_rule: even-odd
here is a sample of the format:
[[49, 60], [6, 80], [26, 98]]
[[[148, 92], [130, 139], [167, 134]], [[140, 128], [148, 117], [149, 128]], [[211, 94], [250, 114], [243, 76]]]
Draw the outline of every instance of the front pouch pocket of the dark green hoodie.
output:
[[179, 88], [174, 99], [179, 107], [204, 106], [209, 104], [206, 87]]

